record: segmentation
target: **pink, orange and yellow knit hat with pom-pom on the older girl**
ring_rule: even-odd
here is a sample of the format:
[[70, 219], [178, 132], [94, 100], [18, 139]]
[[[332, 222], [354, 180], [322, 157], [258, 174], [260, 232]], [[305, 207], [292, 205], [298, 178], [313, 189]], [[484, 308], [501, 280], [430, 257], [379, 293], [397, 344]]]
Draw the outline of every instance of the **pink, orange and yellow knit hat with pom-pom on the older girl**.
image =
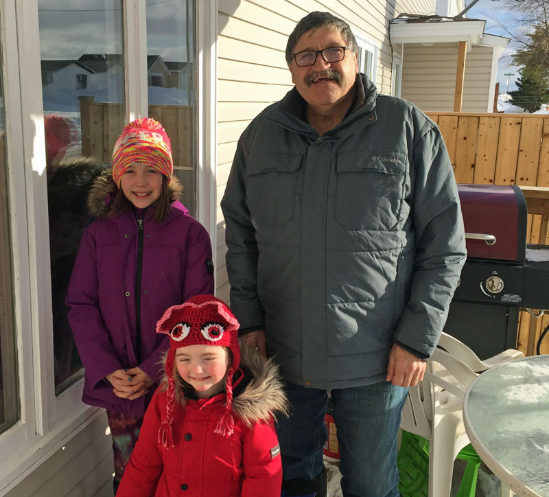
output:
[[174, 172], [172, 144], [164, 128], [151, 117], [140, 117], [124, 126], [113, 150], [113, 179], [120, 178], [132, 163], [143, 163], [159, 170], [168, 183]]

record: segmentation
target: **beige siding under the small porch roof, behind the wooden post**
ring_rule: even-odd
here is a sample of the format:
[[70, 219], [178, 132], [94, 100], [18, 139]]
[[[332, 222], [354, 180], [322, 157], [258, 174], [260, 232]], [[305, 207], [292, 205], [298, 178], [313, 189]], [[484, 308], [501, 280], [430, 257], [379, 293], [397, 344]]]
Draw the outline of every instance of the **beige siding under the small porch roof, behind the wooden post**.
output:
[[[473, 47], [465, 58], [463, 112], [487, 112], [493, 48]], [[457, 43], [404, 46], [401, 97], [422, 111], [453, 111]]]

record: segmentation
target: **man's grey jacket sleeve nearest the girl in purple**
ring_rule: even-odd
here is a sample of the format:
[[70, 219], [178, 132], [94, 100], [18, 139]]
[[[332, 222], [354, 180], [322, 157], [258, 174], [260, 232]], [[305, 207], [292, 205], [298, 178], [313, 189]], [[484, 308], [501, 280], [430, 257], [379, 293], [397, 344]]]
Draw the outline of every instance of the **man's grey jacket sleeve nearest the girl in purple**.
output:
[[244, 138], [238, 142], [221, 208], [225, 218], [226, 266], [231, 284], [231, 309], [240, 328], [264, 327], [264, 309], [257, 295], [258, 250], [255, 229], [246, 203], [246, 158]]

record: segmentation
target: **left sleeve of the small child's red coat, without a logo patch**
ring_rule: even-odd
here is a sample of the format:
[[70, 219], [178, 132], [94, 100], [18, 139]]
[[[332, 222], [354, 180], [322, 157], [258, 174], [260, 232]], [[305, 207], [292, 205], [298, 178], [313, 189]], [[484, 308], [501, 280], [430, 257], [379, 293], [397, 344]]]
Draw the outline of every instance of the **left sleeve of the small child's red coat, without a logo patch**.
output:
[[[145, 412], [139, 439], [124, 470], [117, 497], [150, 497], [164, 469], [158, 433], [161, 409], [157, 390]], [[172, 449], [175, 450], [175, 449]]]

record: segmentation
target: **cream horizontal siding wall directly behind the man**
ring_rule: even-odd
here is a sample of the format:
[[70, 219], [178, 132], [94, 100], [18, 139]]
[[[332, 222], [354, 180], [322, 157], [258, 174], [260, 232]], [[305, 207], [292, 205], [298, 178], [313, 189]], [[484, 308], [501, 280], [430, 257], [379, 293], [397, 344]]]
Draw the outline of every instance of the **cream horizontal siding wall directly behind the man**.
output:
[[314, 10], [329, 10], [347, 21], [355, 34], [377, 45], [376, 84], [382, 93], [390, 93], [393, 55], [388, 21], [401, 12], [434, 12], [433, 0], [278, 0], [276, 8], [273, 5], [268, 0], [219, 0], [216, 292], [226, 301], [229, 283], [220, 200], [240, 134], [262, 109], [292, 88], [284, 51], [297, 21]]

